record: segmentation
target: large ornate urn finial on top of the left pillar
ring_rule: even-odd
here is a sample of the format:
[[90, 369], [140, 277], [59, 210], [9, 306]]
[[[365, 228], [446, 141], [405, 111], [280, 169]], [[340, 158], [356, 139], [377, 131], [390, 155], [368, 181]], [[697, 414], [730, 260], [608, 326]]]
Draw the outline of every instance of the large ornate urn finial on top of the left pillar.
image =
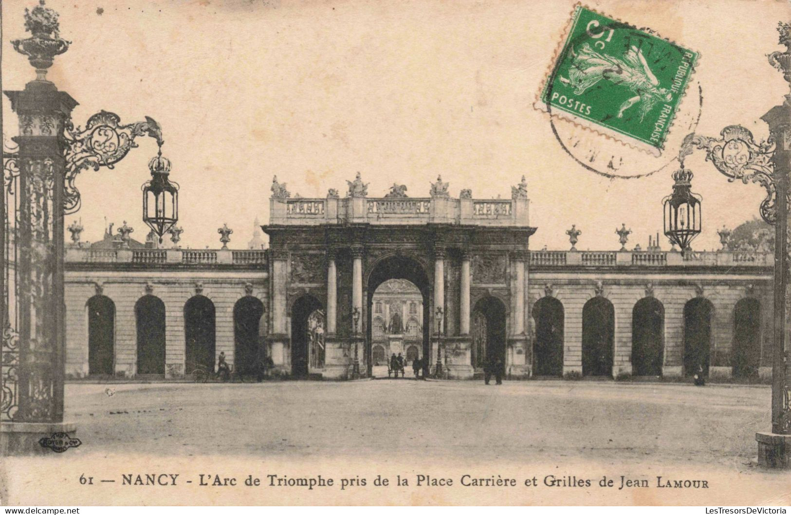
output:
[[36, 69], [36, 81], [46, 81], [47, 68], [52, 66], [55, 55], [69, 50], [70, 41], [60, 37], [58, 13], [44, 6], [44, 0], [33, 9], [25, 9], [25, 31], [27, 39], [14, 39], [13, 49], [27, 55], [31, 66]]

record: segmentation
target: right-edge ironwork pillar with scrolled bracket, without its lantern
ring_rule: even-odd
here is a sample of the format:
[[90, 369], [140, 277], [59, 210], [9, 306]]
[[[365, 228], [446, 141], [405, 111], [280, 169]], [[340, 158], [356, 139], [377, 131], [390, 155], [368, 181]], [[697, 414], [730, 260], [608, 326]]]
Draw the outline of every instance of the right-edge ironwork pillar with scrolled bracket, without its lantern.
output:
[[[772, 66], [782, 71], [785, 81], [791, 83], [791, 25], [778, 24], [780, 44], [784, 52], [769, 55]], [[761, 117], [769, 126], [770, 137], [755, 141], [752, 133], [743, 126], [727, 126], [720, 137], [689, 134], [679, 152], [681, 170], [684, 158], [694, 148], [706, 151], [717, 171], [729, 181], [757, 182], [766, 189], [761, 202], [763, 220], [774, 225], [774, 351], [772, 353], [772, 430], [758, 433], [759, 464], [773, 468], [791, 467], [791, 381], [789, 381], [789, 356], [785, 348], [786, 328], [789, 318], [789, 171], [791, 171], [791, 95], [785, 96], [782, 105], [772, 107]]]

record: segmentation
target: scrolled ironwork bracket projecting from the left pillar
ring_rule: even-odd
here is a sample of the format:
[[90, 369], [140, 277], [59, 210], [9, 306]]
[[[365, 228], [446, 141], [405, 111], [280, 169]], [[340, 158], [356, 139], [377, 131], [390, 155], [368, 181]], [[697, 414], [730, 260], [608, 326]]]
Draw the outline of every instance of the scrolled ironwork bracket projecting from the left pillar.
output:
[[138, 146], [134, 138], [146, 134], [156, 139], [158, 145], [164, 143], [161, 127], [148, 116], [145, 122], [122, 125], [121, 118], [115, 113], [99, 111], [88, 118], [85, 129], [74, 127], [71, 120], [66, 120], [62, 134], [66, 159], [64, 213], [69, 215], [80, 209], [80, 192], [74, 181], [81, 171], [88, 168], [99, 170], [100, 167], [112, 170], [132, 148]]

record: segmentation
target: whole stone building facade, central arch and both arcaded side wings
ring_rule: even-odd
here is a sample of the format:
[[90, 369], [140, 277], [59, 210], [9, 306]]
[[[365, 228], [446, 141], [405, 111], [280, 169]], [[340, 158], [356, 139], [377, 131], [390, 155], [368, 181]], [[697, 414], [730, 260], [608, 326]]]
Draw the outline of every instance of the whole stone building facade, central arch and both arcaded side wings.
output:
[[[524, 179], [509, 199], [290, 197], [272, 185], [269, 248], [66, 250], [66, 372], [180, 378], [263, 358], [277, 374], [375, 374], [381, 359], [473, 378], [770, 374], [771, 255], [529, 249]], [[252, 247], [252, 248], [251, 248]]]

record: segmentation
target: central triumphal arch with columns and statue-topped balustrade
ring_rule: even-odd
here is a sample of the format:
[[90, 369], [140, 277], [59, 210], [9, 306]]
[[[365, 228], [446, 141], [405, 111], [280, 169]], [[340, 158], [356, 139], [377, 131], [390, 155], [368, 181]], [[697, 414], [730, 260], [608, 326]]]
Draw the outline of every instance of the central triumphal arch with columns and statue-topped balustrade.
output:
[[302, 198], [273, 180], [262, 228], [276, 367], [323, 378], [373, 374], [373, 297], [395, 279], [422, 296], [424, 373], [471, 378], [487, 359], [501, 359], [510, 374], [528, 376], [528, 242], [536, 228], [524, 177], [508, 199], [475, 199], [471, 190], [453, 198], [441, 177], [428, 197], [407, 197], [397, 184], [369, 197], [359, 173], [347, 183], [343, 197], [331, 189]]

